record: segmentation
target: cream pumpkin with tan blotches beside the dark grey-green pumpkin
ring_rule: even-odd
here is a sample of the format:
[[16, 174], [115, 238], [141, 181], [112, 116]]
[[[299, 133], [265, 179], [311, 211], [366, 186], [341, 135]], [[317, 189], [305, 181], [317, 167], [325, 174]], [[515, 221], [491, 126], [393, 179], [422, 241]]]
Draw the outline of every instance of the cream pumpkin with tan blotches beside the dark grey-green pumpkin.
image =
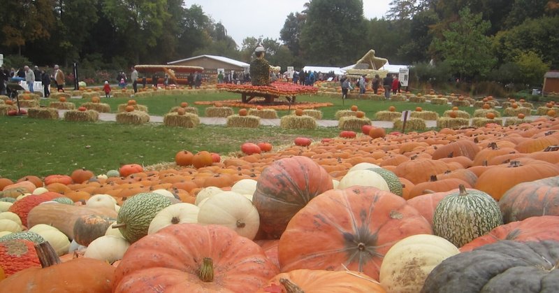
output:
[[386, 292], [420, 292], [429, 273], [460, 250], [435, 235], [418, 234], [395, 243], [382, 260], [379, 280]]

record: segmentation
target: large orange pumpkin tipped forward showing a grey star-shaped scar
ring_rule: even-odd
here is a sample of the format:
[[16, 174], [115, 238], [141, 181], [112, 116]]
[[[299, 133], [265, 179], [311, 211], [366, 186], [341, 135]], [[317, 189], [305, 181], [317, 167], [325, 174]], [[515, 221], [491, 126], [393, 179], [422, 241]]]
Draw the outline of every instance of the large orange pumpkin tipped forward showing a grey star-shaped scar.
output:
[[320, 194], [293, 216], [278, 255], [282, 271], [360, 271], [378, 280], [391, 246], [430, 224], [405, 199], [375, 187], [354, 186]]

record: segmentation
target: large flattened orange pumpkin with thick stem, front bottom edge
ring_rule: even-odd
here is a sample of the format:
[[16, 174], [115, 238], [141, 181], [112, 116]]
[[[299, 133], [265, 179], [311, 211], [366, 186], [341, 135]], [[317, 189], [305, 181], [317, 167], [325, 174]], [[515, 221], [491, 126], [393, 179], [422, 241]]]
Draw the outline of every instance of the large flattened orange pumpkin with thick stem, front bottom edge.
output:
[[126, 250], [113, 292], [256, 292], [277, 273], [259, 245], [231, 229], [175, 224]]

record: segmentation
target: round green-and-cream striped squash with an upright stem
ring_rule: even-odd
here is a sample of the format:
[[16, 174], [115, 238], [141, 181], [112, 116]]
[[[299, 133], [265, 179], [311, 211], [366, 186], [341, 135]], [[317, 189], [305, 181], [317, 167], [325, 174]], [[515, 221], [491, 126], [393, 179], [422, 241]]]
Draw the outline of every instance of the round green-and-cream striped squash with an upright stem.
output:
[[444, 197], [435, 208], [433, 231], [460, 248], [502, 224], [499, 205], [479, 190], [460, 191]]

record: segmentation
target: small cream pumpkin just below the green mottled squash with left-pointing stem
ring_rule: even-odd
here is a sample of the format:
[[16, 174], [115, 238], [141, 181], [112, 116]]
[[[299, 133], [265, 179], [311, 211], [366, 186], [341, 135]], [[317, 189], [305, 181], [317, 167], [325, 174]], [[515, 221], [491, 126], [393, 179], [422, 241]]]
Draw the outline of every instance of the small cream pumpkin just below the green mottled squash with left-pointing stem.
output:
[[84, 257], [99, 259], [112, 264], [122, 259], [124, 252], [130, 247], [130, 243], [122, 237], [101, 236], [89, 243]]

